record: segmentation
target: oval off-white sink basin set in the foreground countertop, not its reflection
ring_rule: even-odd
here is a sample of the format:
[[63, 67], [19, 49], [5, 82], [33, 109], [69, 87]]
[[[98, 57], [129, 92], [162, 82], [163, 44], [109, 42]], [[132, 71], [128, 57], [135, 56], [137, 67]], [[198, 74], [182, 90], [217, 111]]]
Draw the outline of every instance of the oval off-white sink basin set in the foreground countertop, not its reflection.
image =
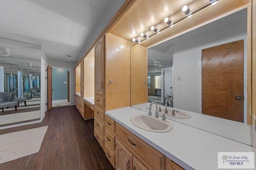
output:
[[134, 115], [131, 117], [130, 121], [136, 127], [142, 128], [144, 130], [152, 132], [169, 132], [172, 130], [172, 124], [169, 122], [161, 121], [154, 118], [154, 115], [148, 116], [146, 114]]

